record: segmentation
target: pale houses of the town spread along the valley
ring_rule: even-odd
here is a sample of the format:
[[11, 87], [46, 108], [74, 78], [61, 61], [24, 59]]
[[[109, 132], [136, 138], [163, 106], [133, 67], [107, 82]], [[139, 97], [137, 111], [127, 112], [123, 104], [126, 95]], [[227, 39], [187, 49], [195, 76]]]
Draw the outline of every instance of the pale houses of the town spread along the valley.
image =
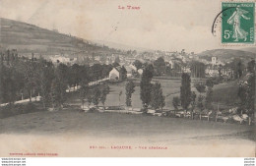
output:
[[[7, 58], [7, 54], [2, 54], [2, 59]], [[17, 50], [10, 50], [10, 55], [18, 55]], [[24, 54], [23, 54], [24, 55]], [[39, 56], [39, 54], [28, 54], [26, 57], [33, 58]], [[61, 53], [55, 55], [47, 55], [45, 56], [48, 60], [50, 60], [53, 64], [63, 63], [66, 65], [80, 64], [80, 65], [94, 65], [96, 63], [99, 64], [113, 64], [114, 62], [118, 62], [120, 66], [123, 66], [127, 71], [127, 78], [132, 77], [133, 75], [141, 75], [142, 69], [136, 69], [133, 65], [133, 62], [136, 60], [141, 61], [142, 63], [153, 63], [159, 57], [162, 57], [165, 61], [166, 67], [168, 67], [171, 71], [177, 73], [191, 73], [190, 70], [190, 62], [198, 61], [205, 65], [205, 74], [207, 77], [218, 77], [220, 73], [222, 76], [231, 77], [233, 75], [233, 71], [226, 67], [224, 62], [218, 59], [218, 57], [211, 57], [210, 60], [206, 60], [203, 58], [199, 58], [198, 55], [194, 54], [194, 52], [186, 53], [185, 50], [181, 50], [180, 52], [170, 52], [170, 51], [145, 51], [137, 53], [136, 51], [79, 51], [75, 53]], [[109, 79], [120, 78], [120, 69], [118, 67], [112, 69], [109, 73]], [[111, 75], [111, 76], [110, 76]], [[114, 77], [115, 76], [115, 77]]]

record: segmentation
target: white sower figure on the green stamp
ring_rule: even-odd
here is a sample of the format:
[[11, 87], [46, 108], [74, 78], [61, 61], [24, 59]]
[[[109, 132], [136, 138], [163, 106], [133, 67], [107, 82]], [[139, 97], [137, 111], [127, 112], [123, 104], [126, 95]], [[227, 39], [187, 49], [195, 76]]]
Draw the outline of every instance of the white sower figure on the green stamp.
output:
[[248, 32], [240, 27], [241, 17], [245, 20], [250, 20], [250, 18], [244, 16], [244, 14], [247, 13], [247, 11], [240, 9], [240, 6], [238, 5], [232, 16], [227, 20], [227, 23], [229, 25], [233, 25], [232, 38], [235, 38], [234, 41], [238, 41], [238, 39], [244, 39], [244, 41], [247, 40]]

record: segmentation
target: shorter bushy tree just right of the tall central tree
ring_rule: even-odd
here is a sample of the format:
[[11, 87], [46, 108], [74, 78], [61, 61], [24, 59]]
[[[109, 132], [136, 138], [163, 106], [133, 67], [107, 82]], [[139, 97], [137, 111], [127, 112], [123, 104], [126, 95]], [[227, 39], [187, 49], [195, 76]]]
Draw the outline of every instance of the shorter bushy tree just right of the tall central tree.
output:
[[151, 106], [154, 109], [159, 109], [162, 111], [162, 108], [165, 106], [165, 97], [162, 95], [162, 89], [160, 83], [154, 83], [152, 85], [152, 97], [151, 97]]

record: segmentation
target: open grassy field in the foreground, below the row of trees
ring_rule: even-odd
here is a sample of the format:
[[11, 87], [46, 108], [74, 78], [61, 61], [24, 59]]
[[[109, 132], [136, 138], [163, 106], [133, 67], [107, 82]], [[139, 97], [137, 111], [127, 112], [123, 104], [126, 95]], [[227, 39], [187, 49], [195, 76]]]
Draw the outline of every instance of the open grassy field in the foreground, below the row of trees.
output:
[[[242, 138], [252, 126], [118, 113], [64, 110], [35, 112], [0, 120], [0, 134], [79, 134], [104, 138], [185, 141], [196, 138]], [[238, 135], [237, 135], [238, 134]]]

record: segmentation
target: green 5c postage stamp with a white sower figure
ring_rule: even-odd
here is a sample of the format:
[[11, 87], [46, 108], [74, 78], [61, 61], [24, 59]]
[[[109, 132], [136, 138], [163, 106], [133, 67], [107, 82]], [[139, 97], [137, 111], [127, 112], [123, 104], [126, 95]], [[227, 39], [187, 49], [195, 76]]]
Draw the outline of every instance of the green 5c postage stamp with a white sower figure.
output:
[[222, 3], [222, 43], [255, 43], [255, 3]]

